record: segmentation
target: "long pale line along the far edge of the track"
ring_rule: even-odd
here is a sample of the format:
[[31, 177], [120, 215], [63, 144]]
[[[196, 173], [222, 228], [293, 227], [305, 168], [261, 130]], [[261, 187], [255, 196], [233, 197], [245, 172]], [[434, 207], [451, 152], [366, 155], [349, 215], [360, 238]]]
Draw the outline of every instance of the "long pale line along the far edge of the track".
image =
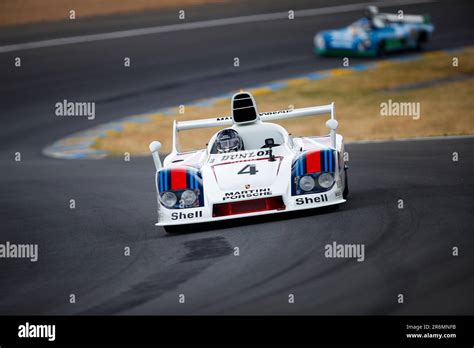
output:
[[[350, 4], [350, 5], [312, 8], [312, 9], [295, 11], [295, 18], [351, 12], [351, 11], [364, 9], [365, 7], [369, 5], [376, 5], [378, 7], [387, 7], [387, 6], [397, 6], [397, 5], [428, 3], [428, 2], [433, 2], [433, 1], [434, 0], [391, 0], [391, 1], [384, 1], [384, 2], [372, 1], [372, 2], [364, 2], [364, 3]], [[34, 48], [43, 48], [43, 47], [73, 45], [73, 44], [84, 43], [84, 42], [122, 39], [122, 38], [150, 35], [150, 34], [170, 33], [170, 32], [175, 32], [175, 31], [182, 31], [182, 30], [212, 28], [212, 27], [220, 27], [224, 25], [273, 21], [273, 20], [278, 20], [278, 19], [288, 19], [288, 12], [276, 12], [276, 13], [258, 14], [258, 15], [250, 15], [250, 16], [241, 16], [241, 17], [212, 19], [212, 20], [207, 20], [207, 21], [179, 23], [179, 24], [149, 27], [149, 28], [114, 31], [110, 33], [71, 36], [71, 37], [65, 37], [65, 38], [59, 38], [59, 39], [25, 42], [25, 43], [19, 43], [19, 44], [0, 46], [0, 53], [15, 52], [15, 51], [21, 51], [21, 50], [34, 49]]]

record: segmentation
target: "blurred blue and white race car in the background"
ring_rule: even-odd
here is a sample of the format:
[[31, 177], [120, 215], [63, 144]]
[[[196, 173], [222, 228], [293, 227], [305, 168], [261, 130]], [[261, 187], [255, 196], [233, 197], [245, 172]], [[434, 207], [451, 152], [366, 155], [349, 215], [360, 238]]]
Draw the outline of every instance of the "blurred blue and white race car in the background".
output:
[[379, 13], [369, 6], [365, 16], [348, 27], [321, 31], [314, 37], [314, 52], [334, 56], [381, 56], [406, 49], [421, 49], [434, 31], [429, 16]]

